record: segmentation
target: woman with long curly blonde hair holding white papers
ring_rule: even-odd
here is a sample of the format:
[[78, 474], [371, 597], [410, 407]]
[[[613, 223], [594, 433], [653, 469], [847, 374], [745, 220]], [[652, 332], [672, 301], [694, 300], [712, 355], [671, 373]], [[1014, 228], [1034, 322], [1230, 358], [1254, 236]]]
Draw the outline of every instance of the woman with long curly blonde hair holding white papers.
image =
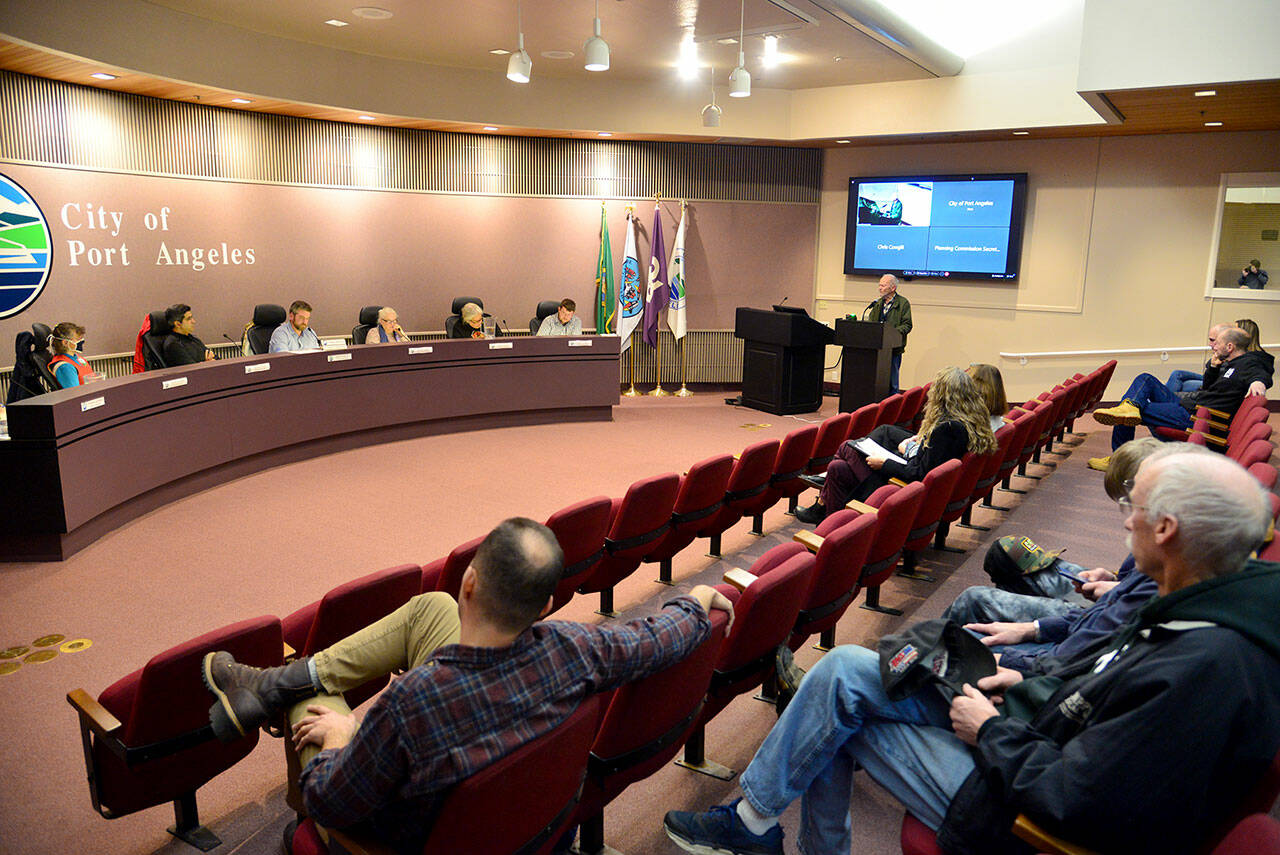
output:
[[996, 438], [978, 387], [960, 369], [942, 369], [929, 387], [920, 433], [913, 436], [897, 425], [881, 425], [869, 436], [846, 442], [827, 466], [818, 502], [799, 508], [796, 520], [815, 525], [828, 509], [838, 511], [850, 499], [865, 499], [891, 477], [919, 481], [934, 466], [965, 452], [993, 451]]

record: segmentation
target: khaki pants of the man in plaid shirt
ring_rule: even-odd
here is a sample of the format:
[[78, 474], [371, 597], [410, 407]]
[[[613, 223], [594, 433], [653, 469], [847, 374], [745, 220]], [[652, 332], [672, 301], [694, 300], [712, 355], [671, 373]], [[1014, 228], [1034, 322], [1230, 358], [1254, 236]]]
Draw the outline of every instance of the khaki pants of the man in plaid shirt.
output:
[[[436, 648], [457, 640], [458, 604], [453, 598], [444, 591], [419, 594], [387, 617], [315, 654], [316, 677], [329, 694], [294, 704], [289, 709], [289, 727], [308, 715], [307, 707], [311, 704], [349, 714], [351, 708], [340, 692], [374, 677], [416, 668], [430, 660]], [[289, 781], [296, 782], [302, 767], [320, 749], [307, 745], [300, 756], [294, 756], [292, 740], [285, 739], [285, 745]]]

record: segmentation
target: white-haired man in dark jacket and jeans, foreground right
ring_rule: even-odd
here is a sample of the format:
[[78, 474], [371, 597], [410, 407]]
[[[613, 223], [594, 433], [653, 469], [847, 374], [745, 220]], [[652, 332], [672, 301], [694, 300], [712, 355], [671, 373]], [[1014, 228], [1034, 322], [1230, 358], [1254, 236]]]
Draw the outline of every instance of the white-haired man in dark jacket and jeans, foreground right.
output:
[[1248, 559], [1270, 509], [1234, 461], [1178, 447], [1121, 506], [1160, 591], [1132, 622], [1051, 675], [1000, 669], [950, 705], [933, 687], [890, 700], [873, 651], [836, 648], [742, 773], [745, 797], [668, 813], [668, 836], [781, 854], [777, 817], [803, 796], [800, 851], [849, 852], [860, 765], [948, 852], [1027, 851], [1019, 813], [1102, 851], [1201, 850], [1280, 747], [1280, 564]]

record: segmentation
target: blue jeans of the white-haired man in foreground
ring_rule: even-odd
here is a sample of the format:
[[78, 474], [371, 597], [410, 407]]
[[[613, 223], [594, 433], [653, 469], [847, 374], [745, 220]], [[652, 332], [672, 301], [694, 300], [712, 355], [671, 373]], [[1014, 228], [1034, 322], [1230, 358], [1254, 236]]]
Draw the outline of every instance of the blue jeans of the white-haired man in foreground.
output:
[[860, 765], [936, 829], [974, 768], [969, 746], [951, 732], [948, 709], [933, 689], [891, 701], [876, 651], [838, 646], [800, 683], [742, 773], [742, 794], [767, 817], [800, 799], [800, 851], [849, 852], [849, 801]]

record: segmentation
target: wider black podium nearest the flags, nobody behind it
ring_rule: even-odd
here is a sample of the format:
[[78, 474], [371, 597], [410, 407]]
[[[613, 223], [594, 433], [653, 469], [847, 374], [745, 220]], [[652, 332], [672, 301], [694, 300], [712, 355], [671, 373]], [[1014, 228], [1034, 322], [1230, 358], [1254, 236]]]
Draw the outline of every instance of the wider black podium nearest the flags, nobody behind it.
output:
[[742, 406], [787, 416], [822, 406], [822, 367], [831, 328], [803, 310], [739, 308]]

